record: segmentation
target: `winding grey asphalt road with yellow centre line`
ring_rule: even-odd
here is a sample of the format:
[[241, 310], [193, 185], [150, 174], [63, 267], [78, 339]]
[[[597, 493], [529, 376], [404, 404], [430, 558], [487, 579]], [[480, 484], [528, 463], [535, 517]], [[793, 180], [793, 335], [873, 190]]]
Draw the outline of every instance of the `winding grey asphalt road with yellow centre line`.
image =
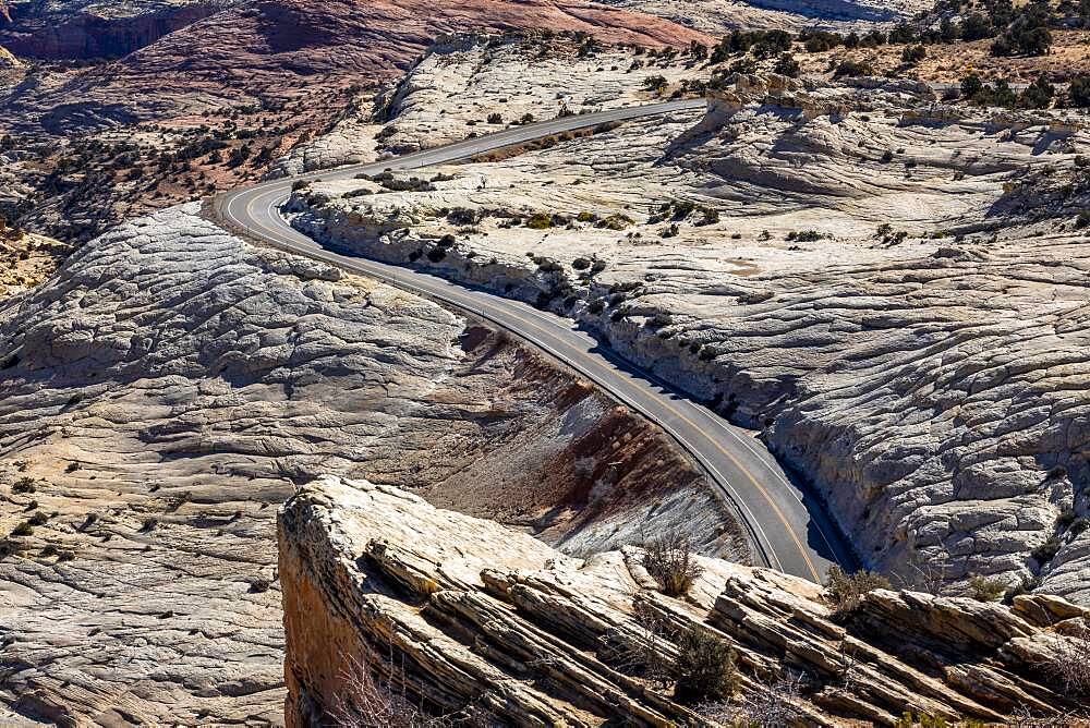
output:
[[774, 569], [820, 581], [831, 563], [850, 568], [855, 558], [821, 505], [792, 482], [752, 433], [728, 424], [653, 376], [620, 361], [590, 333], [574, 328], [570, 319], [436, 276], [325, 250], [294, 230], [279, 213], [298, 179], [351, 179], [385, 169], [416, 169], [559, 132], [703, 107], [702, 99], [681, 100], [526, 124], [397, 159], [324, 170], [227, 192], [215, 198], [214, 210], [220, 222], [276, 247], [441, 301], [487, 319], [548, 352], [618, 401], [657, 423], [685, 448], [741, 515], [759, 560]]

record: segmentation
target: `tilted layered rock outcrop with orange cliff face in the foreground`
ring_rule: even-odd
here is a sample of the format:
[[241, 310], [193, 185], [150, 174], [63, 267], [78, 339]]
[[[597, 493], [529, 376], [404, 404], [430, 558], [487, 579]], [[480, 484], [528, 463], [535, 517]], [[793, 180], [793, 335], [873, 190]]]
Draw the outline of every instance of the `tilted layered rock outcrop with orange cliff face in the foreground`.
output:
[[787, 699], [802, 725], [1078, 707], [1044, 666], [1075, 646], [1067, 634], [1090, 612], [1055, 597], [1007, 607], [874, 591], [834, 620], [810, 582], [703, 559], [680, 600], [656, 591], [634, 549], [581, 561], [336, 477], [288, 501], [278, 534], [291, 726], [351, 703], [360, 669], [392, 677], [414, 704], [473, 705], [510, 725], [708, 725], [640, 677], [646, 660], [675, 659], [690, 628], [736, 651], [743, 696], [803, 676], [804, 691]]

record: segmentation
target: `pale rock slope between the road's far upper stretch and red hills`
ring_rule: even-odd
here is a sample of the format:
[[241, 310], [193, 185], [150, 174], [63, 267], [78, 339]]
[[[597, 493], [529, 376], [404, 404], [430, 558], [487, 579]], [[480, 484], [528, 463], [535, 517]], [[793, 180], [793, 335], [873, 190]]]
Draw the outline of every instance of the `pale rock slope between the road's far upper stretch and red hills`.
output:
[[712, 73], [691, 66], [685, 59], [652, 59], [643, 48], [589, 50], [565, 36], [452, 38], [431, 47], [396, 87], [358, 104], [328, 132], [278, 160], [270, 175], [373, 161], [499, 131], [528, 117], [543, 121], [647, 104], [656, 100], [643, 86], [649, 74], [676, 84], [682, 77], [706, 81]]

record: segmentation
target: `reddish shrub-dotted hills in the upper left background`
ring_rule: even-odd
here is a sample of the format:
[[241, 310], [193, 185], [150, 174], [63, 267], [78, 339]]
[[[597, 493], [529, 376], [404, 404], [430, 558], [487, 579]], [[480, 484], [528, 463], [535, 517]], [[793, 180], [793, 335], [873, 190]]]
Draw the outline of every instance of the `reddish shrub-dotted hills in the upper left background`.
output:
[[[0, 214], [65, 242], [252, 179], [392, 83], [440, 36], [710, 41], [584, 0], [56, 0], [21, 3], [17, 15], [0, 27], [0, 46], [119, 56], [11, 72], [0, 59], [0, 137], [13, 134], [19, 153], [0, 163]], [[25, 204], [7, 205], [9, 189]]]

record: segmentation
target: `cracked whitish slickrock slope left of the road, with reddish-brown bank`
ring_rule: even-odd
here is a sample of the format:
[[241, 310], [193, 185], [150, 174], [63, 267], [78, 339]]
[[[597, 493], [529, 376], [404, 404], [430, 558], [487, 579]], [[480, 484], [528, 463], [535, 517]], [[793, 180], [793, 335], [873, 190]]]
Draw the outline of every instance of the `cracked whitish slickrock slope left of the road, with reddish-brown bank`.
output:
[[324, 472], [572, 553], [661, 525], [744, 558], [688, 461], [585, 384], [196, 213], [126, 223], [0, 304], [0, 704], [279, 723], [272, 518]]

